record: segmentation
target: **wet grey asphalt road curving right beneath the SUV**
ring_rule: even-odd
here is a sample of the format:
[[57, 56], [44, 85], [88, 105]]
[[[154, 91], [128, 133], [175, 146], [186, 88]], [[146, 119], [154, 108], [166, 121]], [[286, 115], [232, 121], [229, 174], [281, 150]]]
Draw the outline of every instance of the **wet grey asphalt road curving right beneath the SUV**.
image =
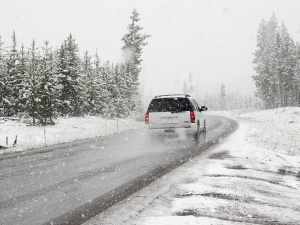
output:
[[237, 127], [223, 117], [206, 119], [207, 133], [198, 138], [143, 128], [2, 157], [0, 224], [83, 223]]

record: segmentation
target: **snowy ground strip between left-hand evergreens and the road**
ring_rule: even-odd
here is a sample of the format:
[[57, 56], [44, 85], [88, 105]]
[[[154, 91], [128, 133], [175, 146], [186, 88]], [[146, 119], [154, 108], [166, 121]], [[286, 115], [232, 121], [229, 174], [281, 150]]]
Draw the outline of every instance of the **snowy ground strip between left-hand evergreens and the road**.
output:
[[[0, 154], [47, 145], [105, 136], [144, 126], [132, 119], [109, 120], [95, 116], [59, 118], [53, 126], [28, 126], [18, 120], [0, 118]], [[13, 143], [17, 136], [17, 145]], [[6, 138], [8, 145], [6, 145]]]

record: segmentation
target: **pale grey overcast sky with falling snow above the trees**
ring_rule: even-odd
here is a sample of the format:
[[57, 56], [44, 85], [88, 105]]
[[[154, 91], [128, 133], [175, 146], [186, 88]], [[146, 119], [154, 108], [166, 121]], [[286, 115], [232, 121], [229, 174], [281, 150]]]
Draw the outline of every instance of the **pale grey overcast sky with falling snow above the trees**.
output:
[[[261, 20], [274, 12], [300, 41], [299, 0], [0, 0], [0, 35], [18, 47], [44, 40], [56, 48], [72, 33], [81, 53], [96, 49], [102, 61], [120, 62], [122, 36], [133, 9], [151, 35], [142, 55], [141, 82], [147, 96], [182, 93], [191, 73], [198, 95], [219, 91], [253, 94], [253, 52]], [[193, 93], [195, 94], [195, 93]]]

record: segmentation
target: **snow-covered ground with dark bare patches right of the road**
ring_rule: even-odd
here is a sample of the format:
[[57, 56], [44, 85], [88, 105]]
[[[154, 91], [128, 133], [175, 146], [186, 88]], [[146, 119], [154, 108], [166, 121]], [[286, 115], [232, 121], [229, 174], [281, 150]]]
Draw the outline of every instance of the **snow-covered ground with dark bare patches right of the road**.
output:
[[215, 114], [238, 130], [85, 224], [300, 224], [300, 108]]

